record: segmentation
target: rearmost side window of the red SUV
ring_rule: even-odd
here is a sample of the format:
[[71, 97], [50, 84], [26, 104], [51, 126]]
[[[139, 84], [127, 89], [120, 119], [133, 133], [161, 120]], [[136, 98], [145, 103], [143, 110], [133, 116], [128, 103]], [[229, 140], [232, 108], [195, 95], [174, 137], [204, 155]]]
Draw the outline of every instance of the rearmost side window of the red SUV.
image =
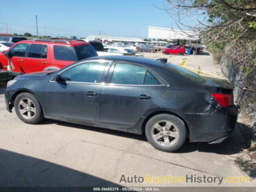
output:
[[54, 58], [62, 61], [76, 61], [74, 49], [71, 46], [53, 46]]

